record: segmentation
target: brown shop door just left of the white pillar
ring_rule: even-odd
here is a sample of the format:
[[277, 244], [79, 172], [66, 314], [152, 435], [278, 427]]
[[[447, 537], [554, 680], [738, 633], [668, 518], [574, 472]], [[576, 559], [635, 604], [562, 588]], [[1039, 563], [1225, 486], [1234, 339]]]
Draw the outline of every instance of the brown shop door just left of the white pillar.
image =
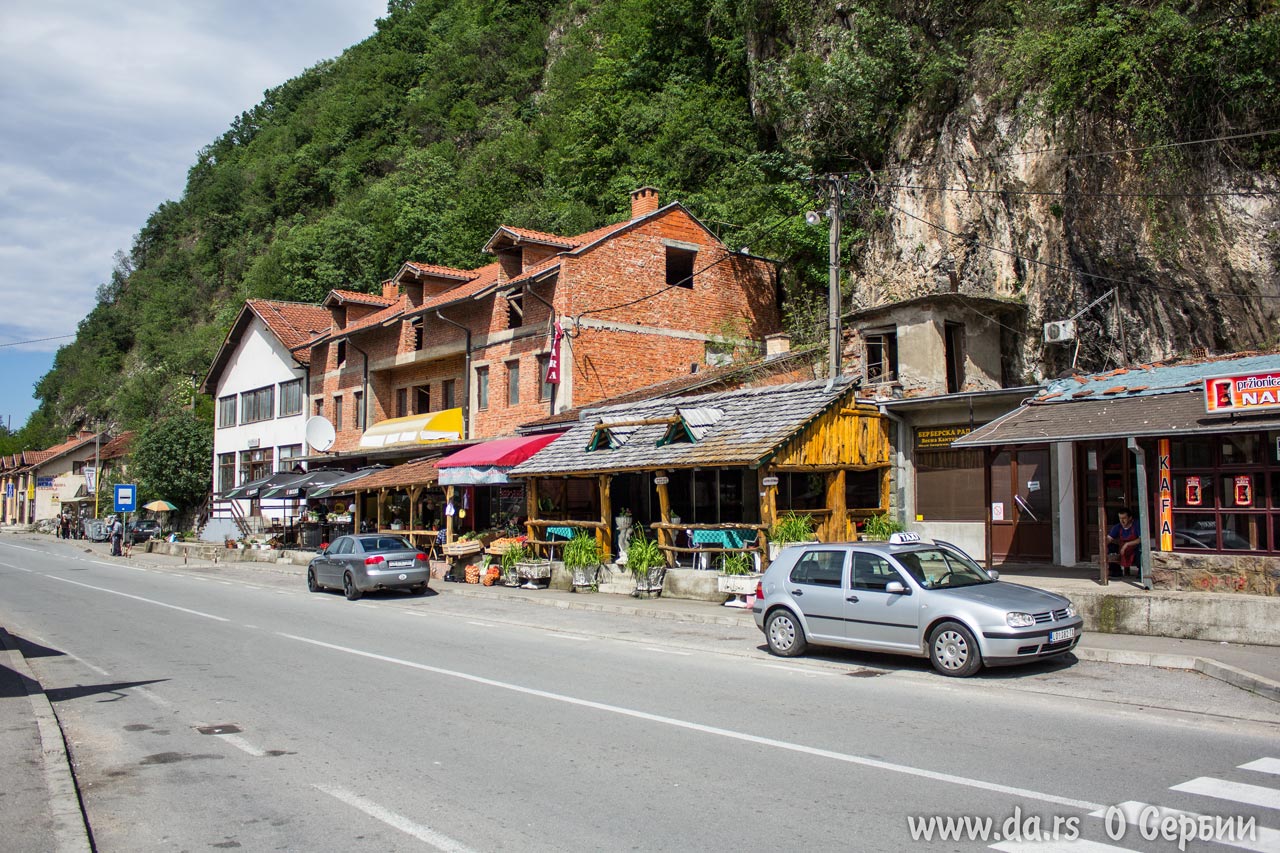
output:
[[1053, 482], [1047, 447], [1000, 451], [991, 461], [993, 562], [1053, 557]]

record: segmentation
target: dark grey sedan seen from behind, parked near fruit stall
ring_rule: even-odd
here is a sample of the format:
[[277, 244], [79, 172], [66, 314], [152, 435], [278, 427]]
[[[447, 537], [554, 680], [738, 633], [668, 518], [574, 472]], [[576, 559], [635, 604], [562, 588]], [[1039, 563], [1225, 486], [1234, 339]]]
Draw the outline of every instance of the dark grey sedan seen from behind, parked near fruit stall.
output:
[[307, 565], [307, 589], [340, 589], [351, 601], [374, 589], [424, 593], [430, 581], [426, 553], [383, 533], [338, 537]]

